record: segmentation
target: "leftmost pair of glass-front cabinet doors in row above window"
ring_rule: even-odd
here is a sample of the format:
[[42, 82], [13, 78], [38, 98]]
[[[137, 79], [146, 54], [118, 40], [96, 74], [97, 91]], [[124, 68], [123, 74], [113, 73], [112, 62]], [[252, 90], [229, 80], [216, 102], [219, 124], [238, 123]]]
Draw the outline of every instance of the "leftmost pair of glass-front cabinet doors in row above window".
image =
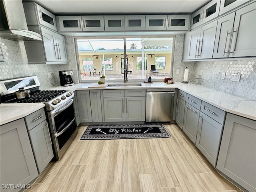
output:
[[104, 31], [104, 16], [57, 16], [59, 32]]

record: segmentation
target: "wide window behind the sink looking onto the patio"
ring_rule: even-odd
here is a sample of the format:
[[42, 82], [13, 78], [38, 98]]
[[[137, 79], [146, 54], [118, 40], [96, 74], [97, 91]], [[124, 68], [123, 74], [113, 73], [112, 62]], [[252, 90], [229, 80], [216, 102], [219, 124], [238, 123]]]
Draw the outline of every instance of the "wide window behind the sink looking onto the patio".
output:
[[[174, 36], [168, 38], [76, 38], [80, 82], [97, 82], [104, 75], [108, 82], [124, 80], [124, 54], [128, 58], [128, 81], [143, 81], [156, 65], [154, 81], [171, 74]], [[89, 69], [93, 68], [94, 73]]]

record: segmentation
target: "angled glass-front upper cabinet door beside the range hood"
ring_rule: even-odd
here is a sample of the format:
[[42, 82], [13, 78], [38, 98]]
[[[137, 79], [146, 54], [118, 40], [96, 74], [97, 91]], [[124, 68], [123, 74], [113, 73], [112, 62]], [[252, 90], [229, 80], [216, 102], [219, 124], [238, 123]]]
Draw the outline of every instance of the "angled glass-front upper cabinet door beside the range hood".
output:
[[46, 26], [54, 31], [57, 31], [56, 19], [54, 14], [50, 13], [40, 5], [36, 4], [39, 24]]

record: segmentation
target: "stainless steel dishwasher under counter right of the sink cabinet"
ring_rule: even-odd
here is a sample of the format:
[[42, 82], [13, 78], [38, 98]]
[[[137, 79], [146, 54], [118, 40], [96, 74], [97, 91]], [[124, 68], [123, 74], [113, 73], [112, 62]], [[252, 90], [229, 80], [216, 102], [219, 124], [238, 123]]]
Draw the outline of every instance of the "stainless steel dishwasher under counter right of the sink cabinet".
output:
[[171, 122], [175, 88], [146, 90], [146, 122]]

